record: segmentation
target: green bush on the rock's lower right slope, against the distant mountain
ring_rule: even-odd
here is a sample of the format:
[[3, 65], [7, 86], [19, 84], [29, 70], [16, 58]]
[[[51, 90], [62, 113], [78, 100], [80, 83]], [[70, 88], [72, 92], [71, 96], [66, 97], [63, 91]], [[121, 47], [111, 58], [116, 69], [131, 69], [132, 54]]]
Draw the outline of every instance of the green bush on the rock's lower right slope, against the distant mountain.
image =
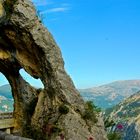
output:
[[90, 120], [94, 123], [97, 123], [97, 114], [100, 112], [100, 108], [95, 106], [92, 101], [87, 101], [85, 104], [85, 112], [83, 114], [83, 118], [85, 120]]

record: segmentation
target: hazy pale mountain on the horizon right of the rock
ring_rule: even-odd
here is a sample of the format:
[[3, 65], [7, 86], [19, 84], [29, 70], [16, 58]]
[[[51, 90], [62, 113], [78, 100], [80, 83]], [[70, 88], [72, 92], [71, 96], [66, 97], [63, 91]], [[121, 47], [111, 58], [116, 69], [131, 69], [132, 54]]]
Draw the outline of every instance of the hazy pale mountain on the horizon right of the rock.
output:
[[107, 109], [139, 90], [140, 80], [124, 80], [79, 91], [85, 100], [92, 100], [97, 106]]

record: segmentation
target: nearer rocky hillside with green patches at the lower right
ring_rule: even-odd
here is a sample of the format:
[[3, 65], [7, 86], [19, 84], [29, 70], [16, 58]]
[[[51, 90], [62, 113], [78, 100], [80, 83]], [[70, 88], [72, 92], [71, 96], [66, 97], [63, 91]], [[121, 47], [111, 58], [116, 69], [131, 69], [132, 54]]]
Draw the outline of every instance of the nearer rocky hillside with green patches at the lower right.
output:
[[120, 130], [122, 140], [140, 140], [140, 91], [112, 110], [107, 110], [105, 116], [116, 123], [114, 129], [110, 129], [111, 131], [119, 131], [116, 129], [117, 124], [122, 125]]

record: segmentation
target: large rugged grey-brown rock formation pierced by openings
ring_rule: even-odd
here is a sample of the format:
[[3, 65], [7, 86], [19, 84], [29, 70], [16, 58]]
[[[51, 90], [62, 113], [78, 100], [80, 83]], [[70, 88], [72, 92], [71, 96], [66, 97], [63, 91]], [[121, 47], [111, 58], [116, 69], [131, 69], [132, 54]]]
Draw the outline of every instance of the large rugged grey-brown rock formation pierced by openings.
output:
[[[40, 78], [44, 89], [27, 83], [22, 68]], [[16, 133], [37, 140], [106, 139], [103, 122], [87, 125], [82, 118], [84, 102], [29, 0], [0, 1], [0, 72], [12, 87]]]

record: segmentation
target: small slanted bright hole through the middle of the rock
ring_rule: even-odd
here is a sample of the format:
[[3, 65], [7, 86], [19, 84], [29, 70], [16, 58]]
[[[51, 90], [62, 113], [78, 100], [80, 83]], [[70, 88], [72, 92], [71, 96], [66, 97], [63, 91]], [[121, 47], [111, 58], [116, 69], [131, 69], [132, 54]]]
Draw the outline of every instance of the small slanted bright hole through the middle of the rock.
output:
[[33, 78], [24, 69], [21, 69], [19, 72], [21, 76], [24, 78], [24, 80], [26, 80], [31, 86], [35, 88], [44, 88], [44, 85], [40, 79]]

